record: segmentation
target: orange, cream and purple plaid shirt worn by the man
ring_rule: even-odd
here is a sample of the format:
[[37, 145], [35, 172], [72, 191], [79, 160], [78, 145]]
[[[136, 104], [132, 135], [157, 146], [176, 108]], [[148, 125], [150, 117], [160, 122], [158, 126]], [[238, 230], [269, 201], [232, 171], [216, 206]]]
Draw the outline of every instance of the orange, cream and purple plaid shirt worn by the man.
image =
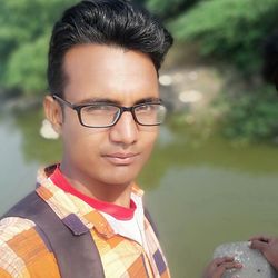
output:
[[[148, 252], [138, 242], [116, 234], [99, 211], [54, 186], [48, 176], [44, 170], [39, 171], [37, 193], [73, 232], [82, 229], [70, 225], [76, 217], [90, 229], [107, 278], [170, 277], [158, 239], [146, 218]], [[132, 190], [142, 196], [136, 186]], [[34, 222], [18, 217], [0, 221], [0, 277], [60, 277], [54, 255], [40, 237]]]

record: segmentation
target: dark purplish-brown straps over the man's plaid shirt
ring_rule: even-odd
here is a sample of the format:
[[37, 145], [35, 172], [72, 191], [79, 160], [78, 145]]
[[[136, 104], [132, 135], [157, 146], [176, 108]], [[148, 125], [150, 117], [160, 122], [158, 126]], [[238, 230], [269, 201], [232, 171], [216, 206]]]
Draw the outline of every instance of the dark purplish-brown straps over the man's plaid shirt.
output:
[[[146, 208], [145, 216], [158, 236], [157, 228]], [[47, 241], [44, 244], [54, 254], [62, 278], [105, 278], [100, 255], [90, 230], [73, 235], [36, 191], [29, 193], [1, 218], [6, 217], [27, 218], [36, 224], [43, 235], [43, 240]], [[77, 218], [77, 220], [81, 226], [83, 225], [80, 219]]]

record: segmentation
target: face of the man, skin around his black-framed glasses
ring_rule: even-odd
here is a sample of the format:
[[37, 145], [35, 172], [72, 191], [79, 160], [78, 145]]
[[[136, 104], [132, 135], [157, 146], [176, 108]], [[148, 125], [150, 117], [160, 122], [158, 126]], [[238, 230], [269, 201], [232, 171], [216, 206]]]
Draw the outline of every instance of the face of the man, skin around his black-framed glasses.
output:
[[[66, 53], [63, 98], [72, 103], [109, 101], [125, 107], [159, 98], [157, 72], [143, 53], [116, 47], [86, 44]], [[149, 158], [158, 127], [135, 122], [130, 112], [109, 128], [80, 125], [64, 107], [62, 163], [83, 182], [128, 185]]]

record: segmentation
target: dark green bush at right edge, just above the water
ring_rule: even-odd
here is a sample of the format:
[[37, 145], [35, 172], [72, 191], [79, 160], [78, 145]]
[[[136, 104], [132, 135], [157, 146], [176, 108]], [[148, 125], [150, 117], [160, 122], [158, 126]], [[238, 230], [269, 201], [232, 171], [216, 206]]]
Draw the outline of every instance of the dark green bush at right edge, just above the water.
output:
[[229, 103], [222, 122], [227, 137], [254, 141], [272, 140], [278, 135], [278, 96], [274, 88], [261, 87], [225, 98]]

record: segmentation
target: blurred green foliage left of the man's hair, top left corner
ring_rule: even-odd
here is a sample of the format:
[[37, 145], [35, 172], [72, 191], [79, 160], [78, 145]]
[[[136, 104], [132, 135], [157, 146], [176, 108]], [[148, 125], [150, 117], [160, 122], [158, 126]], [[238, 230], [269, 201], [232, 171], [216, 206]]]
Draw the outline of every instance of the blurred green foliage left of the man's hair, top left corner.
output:
[[46, 89], [50, 30], [61, 11], [77, 0], [9, 0], [0, 9], [2, 88], [38, 93]]

